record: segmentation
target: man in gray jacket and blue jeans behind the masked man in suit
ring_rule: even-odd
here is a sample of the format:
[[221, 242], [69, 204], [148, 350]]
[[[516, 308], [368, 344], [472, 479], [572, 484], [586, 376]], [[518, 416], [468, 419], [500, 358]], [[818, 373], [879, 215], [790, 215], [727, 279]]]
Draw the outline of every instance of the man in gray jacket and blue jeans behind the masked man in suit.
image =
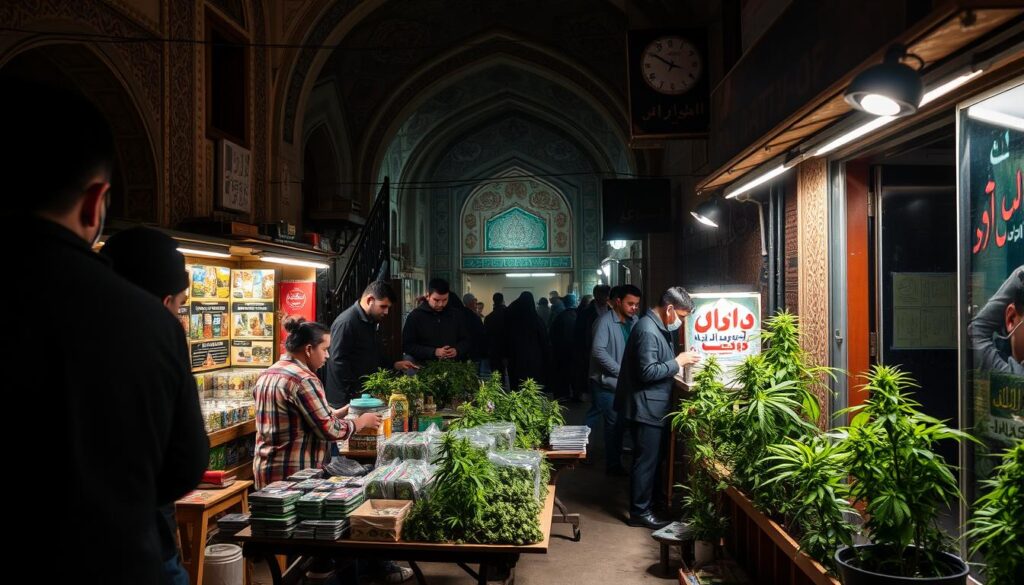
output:
[[626, 339], [630, 336], [640, 310], [640, 289], [625, 285], [612, 289], [612, 310], [594, 322], [594, 341], [590, 350], [590, 411], [587, 426], [604, 420], [604, 461], [608, 475], [626, 475], [623, 467], [623, 420], [612, 404], [618, 383], [618, 365], [623, 362]]

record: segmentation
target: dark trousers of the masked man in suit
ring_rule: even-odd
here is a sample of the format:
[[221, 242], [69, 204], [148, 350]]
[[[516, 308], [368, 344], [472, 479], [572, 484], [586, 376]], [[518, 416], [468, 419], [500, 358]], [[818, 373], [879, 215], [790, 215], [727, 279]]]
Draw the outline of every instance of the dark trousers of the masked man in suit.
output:
[[633, 436], [630, 515], [639, 516], [666, 505], [662, 460], [669, 452], [669, 428], [636, 421], [630, 421], [630, 425]]

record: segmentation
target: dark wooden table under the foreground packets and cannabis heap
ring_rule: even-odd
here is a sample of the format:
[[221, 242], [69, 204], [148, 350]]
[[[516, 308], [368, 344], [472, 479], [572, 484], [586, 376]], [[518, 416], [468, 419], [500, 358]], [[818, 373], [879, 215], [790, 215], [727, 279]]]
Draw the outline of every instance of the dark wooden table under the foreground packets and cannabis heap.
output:
[[[432, 542], [380, 542], [368, 540], [306, 540], [254, 537], [252, 529], [246, 528], [234, 535], [242, 542], [242, 549], [248, 558], [265, 560], [270, 568], [274, 585], [293, 583], [304, 572], [308, 557], [328, 558], [380, 558], [384, 560], [406, 560], [413, 569], [420, 585], [426, 585], [426, 577], [418, 562], [453, 562], [471, 575], [479, 585], [487, 583], [488, 567], [507, 567], [511, 572], [520, 554], [547, 554], [551, 541], [551, 517], [555, 502], [555, 488], [548, 490], [548, 498], [541, 511], [541, 533], [543, 540], [536, 544], [515, 546], [508, 544], [450, 544]], [[298, 558], [284, 573], [274, 560], [275, 555], [289, 554]], [[473, 571], [469, 565], [479, 565]]]

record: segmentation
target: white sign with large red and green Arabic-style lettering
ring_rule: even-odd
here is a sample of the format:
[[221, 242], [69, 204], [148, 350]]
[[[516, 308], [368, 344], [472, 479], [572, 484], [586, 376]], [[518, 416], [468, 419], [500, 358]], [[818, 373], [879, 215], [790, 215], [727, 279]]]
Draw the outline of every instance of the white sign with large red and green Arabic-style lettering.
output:
[[686, 318], [686, 347], [701, 357], [714, 356], [725, 382], [748, 356], [761, 352], [761, 294], [694, 293]]

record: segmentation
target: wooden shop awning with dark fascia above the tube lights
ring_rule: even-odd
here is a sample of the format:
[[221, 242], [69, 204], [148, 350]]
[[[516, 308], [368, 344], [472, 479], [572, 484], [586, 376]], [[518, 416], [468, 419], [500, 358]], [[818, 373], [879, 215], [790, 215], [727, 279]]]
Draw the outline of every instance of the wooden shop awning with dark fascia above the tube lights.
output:
[[[831, 3], [821, 4], [830, 5]], [[795, 6], [794, 9], [796, 8], [800, 7]], [[814, 10], [813, 7], [810, 9]], [[803, 103], [803, 106], [797, 106], [796, 110], [785, 116], [781, 122], [771, 126], [767, 132], [764, 132], [760, 136], [755, 135], [739, 138], [745, 138], [745, 141], [740, 142], [745, 145], [738, 153], [733, 154], [734, 148], [730, 152], [729, 141], [731, 140], [733, 144], [736, 143], [737, 135], [741, 135], [743, 132], [741, 124], [743, 117], [757, 116], [757, 114], [752, 114], [751, 112], [758, 108], [758, 106], [756, 103], [748, 103], [744, 107], [742, 103], [744, 96], [740, 94], [740, 91], [737, 91], [737, 88], [742, 88], [744, 84], [750, 87], [750, 82], [730, 78], [733, 78], [733, 76], [746, 76], [748, 78], [753, 76], [756, 78], [758, 73], [753, 70], [758, 69], [759, 60], [764, 61], [760, 64], [762, 66], [771, 61], [778, 62], [780, 57], [777, 54], [768, 54], [772, 50], [772, 47], [768, 46], [770, 39], [763, 39], [762, 42], [750, 51], [750, 53], [754, 54], [749, 53], [744, 55], [743, 59], [733, 68], [729, 75], [715, 89], [712, 101], [714, 105], [713, 108], [718, 106], [719, 115], [713, 115], [715, 121], [713, 122], [712, 131], [725, 132], [727, 135], [720, 139], [718, 144], [715, 143], [715, 138], [713, 137], [711, 147], [712, 163], [715, 164], [717, 161], [724, 160], [730, 154], [732, 156], [697, 184], [697, 192], [713, 192], [723, 189], [746, 173], [758, 169], [768, 161], [784, 157], [786, 153], [801, 144], [804, 140], [845, 118], [852, 111], [843, 98], [843, 92], [846, 87], [860, 72], [881, 62], [886, 49], [891, 44], [901, 43], [905, 45], [908, 47], [909, 52], [921, 56], [927, 66], [932, 66], [956, 54], [978, 41], [982, 41], [986, 35], [998, 30], [1021, 14], [1024, 14], [1024, 7], [1020, 5], [1020, 2], [997, 0], [958, 0], [947, 2], [932, 10], [910, 29], [895, 38], [891, 38], [888, 42], [884, 42], [868, 58], [850, 69], [840, 79], [829, 84], [824, 90]], [[801, 14], [787, 13], [783, 15], [783, 18], [786, 16], [792, 16], [791, 27], [801, 26], [798, 22]], [[839, 17], [841, 18], [841, 16]], [[806, 19], [807, 16], [804, 15], [803, 18]], [[786, 24], [782, 23], [781, 26], [785, 28]], [[885, 26], [891, 27], [891, 25]], [[880, 27], [884, 28], [883, 23], [880, 23]], [[787, 31], [770, 31], [766, 34], [766, 37], [773, 32], [777, 36], [784, 36], [787, 33]], [[786, 41], [783, 40], [782, 42], [785, 43]], [[827, 46], [827, 44], [824, 46]], [[814, 47], [807, 47], [807, 49], [813, 51]], [[756, 51], [760, 51], [762, 54], [758, 54]], [[818, 55], [817, 58], [827, 58], [828, 56]], [[813, 62], [814, 58], [810, 57], [810, 60]], [[803, 60], [806, 61], [807, 58]], [[799, 59], [795, 58], [794, 64], [798, 62], [800, 62]], [[798, 65], [794, 67], [798, 67]], [[763, 69], [764, 67], [762, 67]], [[763, 71], [761, 75], [764, 75]], [[801, 77], [802, 75], [804, 77]], [[807, 76], [814, 77], [813, 73], [808, 74], [806, 71], [779, 72], [777, 77], [784, 78], [786, 76], [797, 80], [795, 83], [799, 83], [800, 80], [806, 83], [807, 80], [805, 78]], [[813, 83], [813, 80], [811, 80], [811, 83]], [[783, 93], [779, 94], [778, 97], [784, 101], [786, 98], [792, 97], [793, 93], [799, 93], [800, 91], [801, 88], [793, 91], [785, 91], [783, 89]], [[730, 112], [732, 113], [731, 115], [728, 114]]]

